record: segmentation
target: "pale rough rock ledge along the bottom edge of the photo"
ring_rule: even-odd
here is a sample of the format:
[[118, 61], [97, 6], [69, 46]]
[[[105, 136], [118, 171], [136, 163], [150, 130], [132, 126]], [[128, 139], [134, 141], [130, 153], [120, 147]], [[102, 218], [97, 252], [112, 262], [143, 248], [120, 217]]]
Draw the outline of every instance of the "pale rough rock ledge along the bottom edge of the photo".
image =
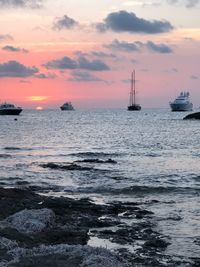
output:
[[114, 253], [90, 246], [40, 246], [33, 249], [16, 249], [17, 262], [12, 267], [130, 267]]

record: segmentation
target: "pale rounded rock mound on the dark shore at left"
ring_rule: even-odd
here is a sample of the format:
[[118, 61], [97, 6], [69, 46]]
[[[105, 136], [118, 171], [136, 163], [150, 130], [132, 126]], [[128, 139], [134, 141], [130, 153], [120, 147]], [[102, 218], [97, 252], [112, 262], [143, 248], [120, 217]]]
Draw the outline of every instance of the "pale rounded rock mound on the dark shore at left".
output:
[[52, 210], [25, 209], [0, 222], [0, 226], [14, 228], [20, 233], [36, 234], [54, 225], [55, 214]]

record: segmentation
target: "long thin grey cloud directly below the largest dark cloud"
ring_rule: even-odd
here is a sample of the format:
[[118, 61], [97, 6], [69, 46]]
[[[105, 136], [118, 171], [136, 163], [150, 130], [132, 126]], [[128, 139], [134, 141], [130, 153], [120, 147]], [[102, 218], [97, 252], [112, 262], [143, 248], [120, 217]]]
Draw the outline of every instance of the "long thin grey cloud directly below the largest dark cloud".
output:
[[172, 53], [173, 50], [170, 46], [166, 44], [155, 44], [152, 41], [148, 41], [146, 43], [142, 42], [126, 42], [126, 41], [118, 41], [117, 39], [113, 40], [110, 44], [105, 45], [106, 48], [132, 53], [132, 52], [141, 52], [142, 49], [147, 49], [152, 52], [167, 54]]

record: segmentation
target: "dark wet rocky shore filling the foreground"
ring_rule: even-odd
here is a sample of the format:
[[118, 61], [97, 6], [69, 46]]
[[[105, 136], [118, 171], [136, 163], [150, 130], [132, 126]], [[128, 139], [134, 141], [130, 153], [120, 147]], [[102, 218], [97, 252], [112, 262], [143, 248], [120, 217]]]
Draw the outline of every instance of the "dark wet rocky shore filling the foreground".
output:
[[[0, 188], [0, 266], [178, 266], [164, 255], [169, 240], [154, 230], [152, 216], [140, 203], [98, 205]], [[89, 246], [93, 237], [119, 247]]]

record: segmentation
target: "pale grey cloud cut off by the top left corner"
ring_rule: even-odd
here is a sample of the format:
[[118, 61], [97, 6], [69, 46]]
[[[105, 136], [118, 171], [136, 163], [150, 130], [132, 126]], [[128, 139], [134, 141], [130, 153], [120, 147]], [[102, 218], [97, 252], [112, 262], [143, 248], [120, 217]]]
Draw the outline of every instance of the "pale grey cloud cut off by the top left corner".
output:
[[0, 7], [40, 8], [43, 0], [0, 0]]

